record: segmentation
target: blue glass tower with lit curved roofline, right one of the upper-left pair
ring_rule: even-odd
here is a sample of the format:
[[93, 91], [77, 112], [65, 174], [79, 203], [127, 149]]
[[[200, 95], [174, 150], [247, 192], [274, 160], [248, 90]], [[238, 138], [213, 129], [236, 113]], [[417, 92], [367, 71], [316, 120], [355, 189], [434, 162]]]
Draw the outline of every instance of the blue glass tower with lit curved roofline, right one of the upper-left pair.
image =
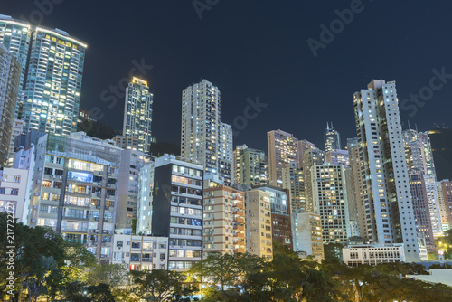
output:
[[77, 130], [86, 48], [59, 29], [34, 28], [22, 109], [25, 132], [67, 136]]

